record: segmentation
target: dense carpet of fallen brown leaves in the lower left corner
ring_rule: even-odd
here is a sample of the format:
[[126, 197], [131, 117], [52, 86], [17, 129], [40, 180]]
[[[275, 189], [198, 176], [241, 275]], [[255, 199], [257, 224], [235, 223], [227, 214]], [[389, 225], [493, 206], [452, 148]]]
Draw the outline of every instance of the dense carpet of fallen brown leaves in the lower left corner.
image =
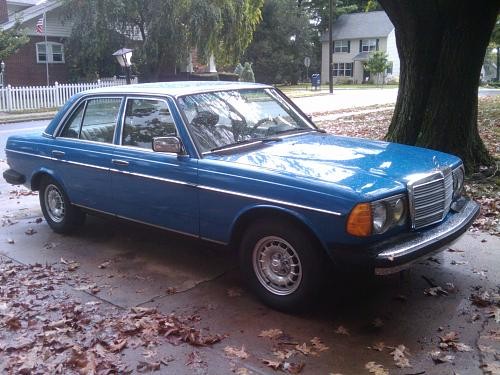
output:
[[[198, 315], [123, 310], [84, 293], [77, 299], [69, 285], [91, 290], [92, 284], [67, 266], [22, 265], [0, 256], [1, 373], [151, 372], [173, 360], [156, 355], [162, 343], [202, 347], [223, 339], [198, 328]], [[124, 351], [142, 352], [142, 359], [125, 363]]]

